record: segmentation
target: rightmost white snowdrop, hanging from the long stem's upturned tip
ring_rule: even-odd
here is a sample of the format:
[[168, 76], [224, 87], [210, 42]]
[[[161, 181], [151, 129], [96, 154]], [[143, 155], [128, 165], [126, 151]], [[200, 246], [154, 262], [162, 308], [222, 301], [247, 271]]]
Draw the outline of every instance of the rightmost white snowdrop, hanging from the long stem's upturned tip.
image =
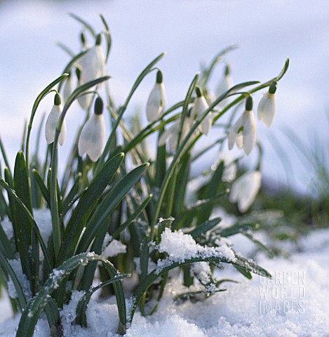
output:
[[257, 109], [257, 116], [260, 121], [264, 121], [264, 124], [269, 128], [274, 120], [276, 113], [276, 81], [273, 81], [269, 86], [269, 91], [264, 93], [260, 104]]

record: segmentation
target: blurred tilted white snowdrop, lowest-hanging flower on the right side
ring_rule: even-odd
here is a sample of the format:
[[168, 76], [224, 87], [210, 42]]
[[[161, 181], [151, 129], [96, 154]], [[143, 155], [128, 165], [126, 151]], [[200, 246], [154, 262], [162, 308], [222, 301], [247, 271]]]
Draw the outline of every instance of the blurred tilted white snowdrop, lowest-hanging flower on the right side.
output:
[[237, 202], [241, 213], [248, 210], [260, 190], [262, 174], [260, 171], [244, 173], [234, 181], [229, 192], [229, 201]]

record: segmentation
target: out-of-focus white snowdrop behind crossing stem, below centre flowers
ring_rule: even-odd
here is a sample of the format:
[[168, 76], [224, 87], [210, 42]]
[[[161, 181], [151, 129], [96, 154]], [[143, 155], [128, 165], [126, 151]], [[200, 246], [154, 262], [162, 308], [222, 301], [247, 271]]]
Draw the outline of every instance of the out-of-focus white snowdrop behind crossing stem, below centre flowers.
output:
[[[182, 136], [180, 137], [183, 140], [189, 131], [191, 130], [193, 124], [193, 119], [191, 117], [185, 117], [183, 128], [182, 128]], [[169, 150], [174, 151], [177, 146], [178, 141], [178, 133], [180, 131], [180, 119], [177, 119], [169, 128], [164, 131], [158, 140], [158, 145], [163, 146], [168, 141]]]

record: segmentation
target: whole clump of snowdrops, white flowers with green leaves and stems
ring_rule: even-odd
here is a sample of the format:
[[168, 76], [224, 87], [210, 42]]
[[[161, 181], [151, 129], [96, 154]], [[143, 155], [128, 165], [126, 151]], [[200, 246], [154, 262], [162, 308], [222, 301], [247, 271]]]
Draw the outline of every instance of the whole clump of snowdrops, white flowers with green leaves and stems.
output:
[[[180, 299], [206, 298], [223, 291], [224, 280], [217, 279], [214, 271], [225, 264], [248, 278], [251, 273], [269, 277], [253, 260], [236, 253], [227, 239], [242, 232], [253, 240], [251, 231], [257, 224], [237, 218], [225, 227], [221, 218], [213, 216], [214, 205], [227, 198], [237, 203], [241, 213], [249, 209], [260, 188], [259, 167], [228, 178], [227, 170], [239, 158], [220, 159], [208, 171], [199, 199], [193, 200], [189, 190], [194, 161], [208, 150], [226, 151], [223, 146], [227, 147], [228, 140], [229, 149], [234, 145], [241, 149], [241, 157], [254, 151], [253, 94], [265, 90], [257, 114], [271, 126], [276, 86], [288, 69], [288, 60], [269, 81], [233, 85], [229, 65], [223, 62], [234, 47], [226, 48], [192, 78], [182, 100], [168, 106], [158, 66], [163, 53], [142, 70], [118, 107], [109, 93], [107, 22], [100, 15], [103, 30], [97, 34], [87, 22], [72, 17], [85, 31], [81, 51], [72, 53], [63, 46], [71, 59], [63, 74], [36, 98], [13, 171], [0, 143], [5, 164], [0, 178], [0, 277], [13, 311], [22, 312], [17, 336], [32, 336], [42, 312], [52, 335], [62, 336], [60, 310], [76, 291], [80, 300], [72, 324], [86, 326], [88, 300], [98, 289], [107, 289], [116, 297], [118, 333], [124, 334], [135, 310], [143, 315], [156, 310], [171, 270], [182, 272], [182, 282], [189, 287], [177, 296]], [[86, 34], [93, 46], [86, 46]], [[224, 64], [225, 69], [213, 98], [208, 83], [217, 64]], [[155, 81], [142, 117], [147, 124], [138, 117], [129, 123], [125, 112], [130, 99], [149, 76]], [[46, 95], [53, 95], [54, 104], [44, 126], [46, 156], [40, 159], [39, 149], [31, 155], [29, 144], [35, 114], [41, 113], [39, 104]], [[76, 140], [68, 144], [65, 138], [71, 130], [65, 118], [75, 100], [84, 114], [80, 114]], [[236, 117], [240, 103], [244, 109]], [[111, 124], [109, 134], [105, 114]], [[224, 115], [230, 117], [222, 122]], [[215, 127], [217, 137], [196, 152], [199, 140]], [[149, 140], [156, 143], [152, 159]], [[62, 175], [58, 174], [59, 145], [71, 148]], [[126, 282], [129, 278], [132, 281]]]

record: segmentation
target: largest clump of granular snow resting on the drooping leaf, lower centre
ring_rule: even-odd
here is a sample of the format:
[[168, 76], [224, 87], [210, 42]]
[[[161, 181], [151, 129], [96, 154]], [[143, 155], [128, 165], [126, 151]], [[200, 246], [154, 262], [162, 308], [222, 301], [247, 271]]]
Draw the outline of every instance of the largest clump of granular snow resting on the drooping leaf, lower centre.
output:
[[191, 258], [226, 258], [234, 261], [234, 252], [229, 246], [223, 244], [218, 247], [201, 246], [197, 244], [192, 235], [184, 234], [181, 230], [171, 232], [165, 228], [161, 234], [161, 242], [158, 250], [160, 253], [168, 253], [168, 258], [159, 260], [156, 267], [156, 274], [173, 263], [183, 263]]

